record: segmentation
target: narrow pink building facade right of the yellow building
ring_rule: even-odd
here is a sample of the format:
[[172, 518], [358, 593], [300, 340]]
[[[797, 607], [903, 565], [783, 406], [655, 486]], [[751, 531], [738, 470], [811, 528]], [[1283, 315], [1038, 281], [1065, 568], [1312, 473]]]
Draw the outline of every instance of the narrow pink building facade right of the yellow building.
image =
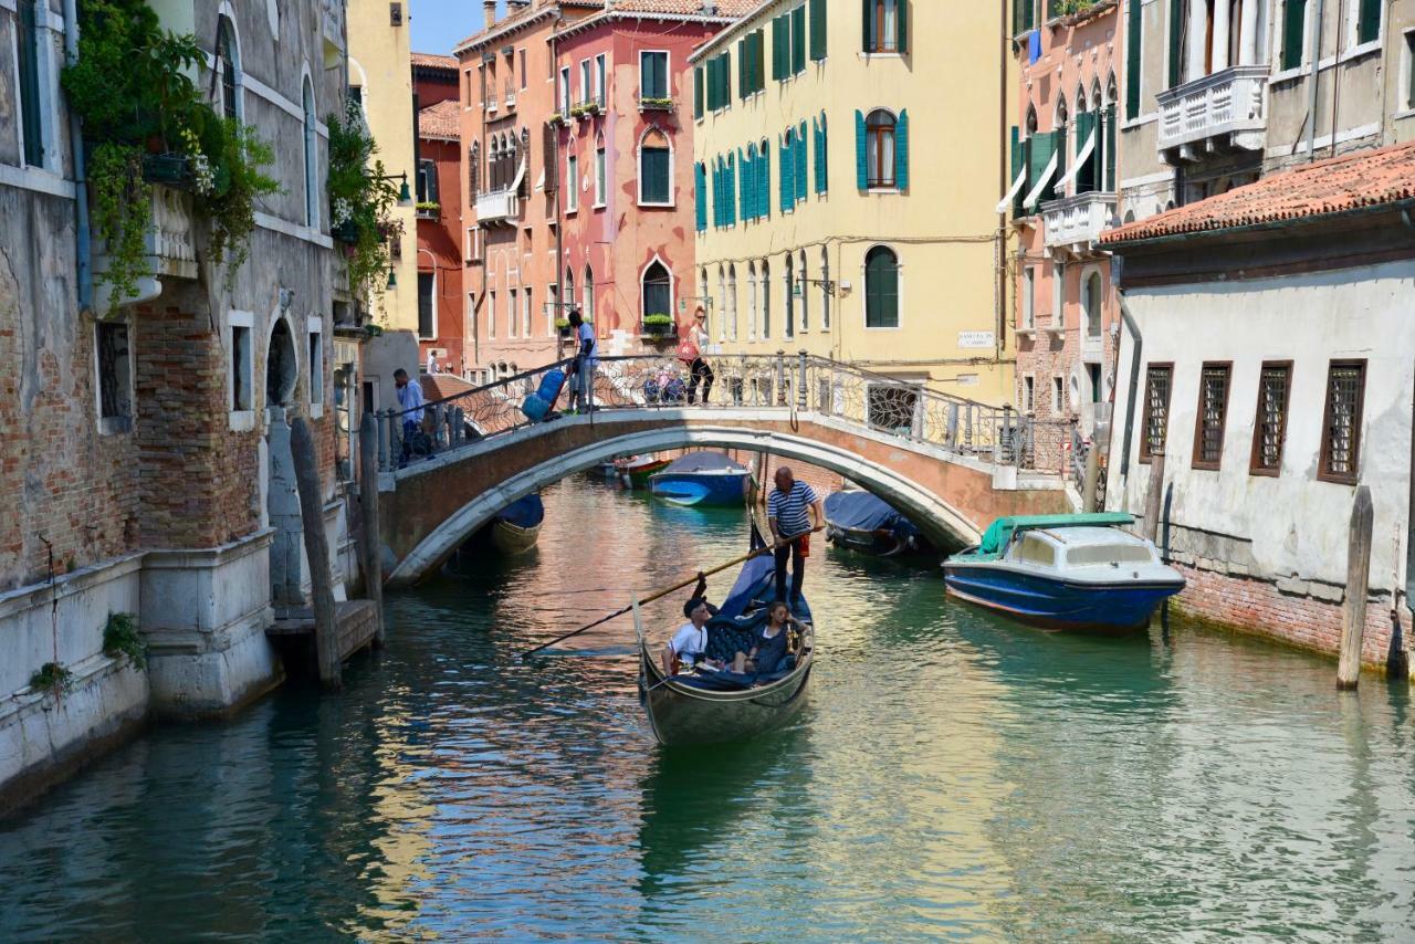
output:
[[1039, 463], [1065, 468], [1082, 439], [1104, 433], [1115, 385], [1119, 299], [1097, 249], [1116, 222], [1119, 4], [1070, 16], [1057, 4], [1016, 6], [1017, 125], [1012, 129], [1017, 408], [1051, 423]]

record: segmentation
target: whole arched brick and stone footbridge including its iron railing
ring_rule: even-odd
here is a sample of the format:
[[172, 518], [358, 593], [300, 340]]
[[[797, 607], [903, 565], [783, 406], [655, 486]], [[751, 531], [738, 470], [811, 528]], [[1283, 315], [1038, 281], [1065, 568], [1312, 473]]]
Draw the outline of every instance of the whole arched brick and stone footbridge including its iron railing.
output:
[[[552, 365], [553, 367], [553, 365]], [[591, 415], [528, 423], [521, 402], [549, 368], [426, 409], [430, 443], [400, 464], [402, 415], [379, 416], [383, 576], [409, 586], [507, 504], [567, 474], [679, 447], [766, 451], [839, 473], [914, 519], [940, 546], [972, 543], [998, 515], [1068, 511], [1065, 481], [1032, 468], [1040, 427], [986, 406], [799, 355], [713, 358], [710, 406], [688, 405], [669, 358], [604, 358]], [[563, 405], [563, 399], [562, 399]]]

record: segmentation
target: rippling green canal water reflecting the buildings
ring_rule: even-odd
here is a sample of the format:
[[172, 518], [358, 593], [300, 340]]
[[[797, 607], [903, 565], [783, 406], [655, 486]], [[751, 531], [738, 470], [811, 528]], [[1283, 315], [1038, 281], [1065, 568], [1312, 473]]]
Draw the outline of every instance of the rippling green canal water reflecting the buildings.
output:
[[546, 510], [525, 559], [393, 596], [341, 696], [157, 727], [0, 822], [0, 940], [1415, 938], [1404, 685], [1044, 635], [818, 548], [807, 708], [668, 752], [627, 621], [518, 652], [739, 553], [743, 515], [591, 478]]

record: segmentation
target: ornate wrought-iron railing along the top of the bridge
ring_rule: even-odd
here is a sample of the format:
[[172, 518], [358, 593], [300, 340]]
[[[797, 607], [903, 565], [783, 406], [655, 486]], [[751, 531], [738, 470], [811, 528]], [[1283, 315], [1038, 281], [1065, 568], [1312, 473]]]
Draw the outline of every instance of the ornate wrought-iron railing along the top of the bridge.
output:
[[[599, 358], [593, 369], [594, 409], [812, 412], [1023, 468], [1036, 467], [1037, 436], [1054, 434], [1010, 406], [979, 403], [805, 352], [710, 355], [705, 361], [712, 371], [710, 386], [706, 375], [695, 378], [671, 354]], [[526, 398], [549, 371], [569, 371], [570, 364], [558, 361], [426, 403], [420, 422], [410, 422], [417, 410], [379, 413], [379, 467], [386, 471], [529, 426], [521, 409]], [[569, 410], [570, 384], [573, 378], [556, 402], [562, 412]]]

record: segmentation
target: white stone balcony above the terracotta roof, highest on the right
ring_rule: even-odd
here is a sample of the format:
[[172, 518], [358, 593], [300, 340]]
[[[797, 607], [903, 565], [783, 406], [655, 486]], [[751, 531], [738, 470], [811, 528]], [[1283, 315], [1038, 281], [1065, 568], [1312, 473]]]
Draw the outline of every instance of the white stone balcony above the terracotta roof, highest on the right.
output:
[[1160, 92], [1160, 160], [1177, 167], [1213, 153], [1261, 151], [1266, 89], [1266, 65], [1234, 65]]

